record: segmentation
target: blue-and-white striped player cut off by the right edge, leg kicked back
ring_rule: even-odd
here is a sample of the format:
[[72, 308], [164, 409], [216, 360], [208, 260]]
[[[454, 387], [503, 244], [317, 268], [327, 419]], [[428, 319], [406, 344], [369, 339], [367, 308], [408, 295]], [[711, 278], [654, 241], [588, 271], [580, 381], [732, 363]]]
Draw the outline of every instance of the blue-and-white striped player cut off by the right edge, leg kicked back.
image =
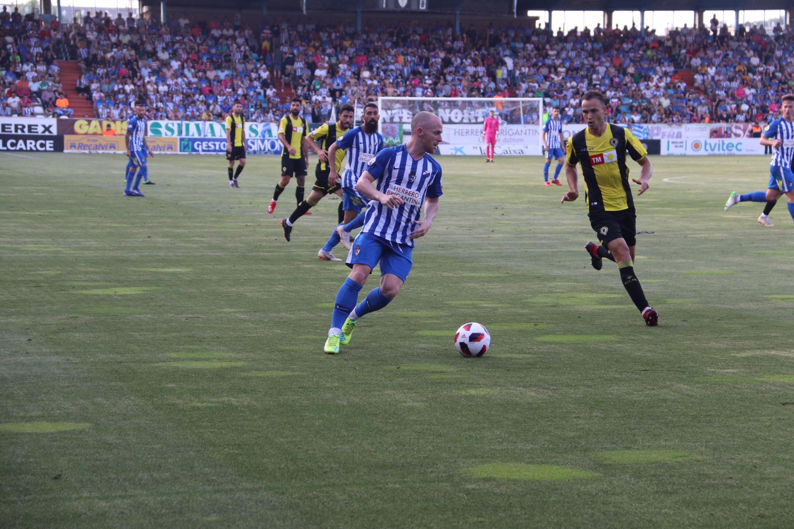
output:
[[761, 226], [774, 226], [769, 220], [769, 213], [775, 207], [777, 199], [785, 194], [788, 197], [788, 213], [794, 219], [794, 174], [792, 174], [792, 157], [794, 157], [794, 94], [786, 94], [781, 102], [781, 118], [769, 123], [761, 133], [761, 145], [772, 147], [772, 163], [769, 164], [769, 188], [766, 191], [755, 191], [738, 195], [730, 193], [725, 210], [740, 202], [765, 202], [764, 212], [758, 217]]

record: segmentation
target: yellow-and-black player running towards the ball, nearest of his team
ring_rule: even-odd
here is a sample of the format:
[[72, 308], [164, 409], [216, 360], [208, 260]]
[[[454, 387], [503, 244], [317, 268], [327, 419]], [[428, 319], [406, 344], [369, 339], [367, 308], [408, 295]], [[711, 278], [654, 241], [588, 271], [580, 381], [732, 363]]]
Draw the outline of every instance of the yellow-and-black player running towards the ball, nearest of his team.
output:
[[632, 179], [639, 184], [638, 195], [648, 190], [648, 180], [653, 175], [653, 166], [648, 153], [630, 130], [604, 122], [603, 110], [607, 99], [599, 91], [588, 91], [582, 98], [582, 117], [588, 128], [568, 139], [566, 149], [565, 176], [570, 191], [561, 203], [572, 202], [579, 197], [576, 165], [584, 176], [584, 199], [588, 204], [590, 226], [598, 234], [601, 245], [588, 242], [584, 248], [590, 255], [591, 264], [600, 270], [606, 257], [618, 264], [623, 287], [634, 305], [642, 313], [649, 326], [657, 325], [659, 315], [650, 307], [642, 286], [634, 275], [634, 249], [637, 244], [634, 199], [629, 185], [629, 168], [626, 155], [640, 165], [640, 178]]

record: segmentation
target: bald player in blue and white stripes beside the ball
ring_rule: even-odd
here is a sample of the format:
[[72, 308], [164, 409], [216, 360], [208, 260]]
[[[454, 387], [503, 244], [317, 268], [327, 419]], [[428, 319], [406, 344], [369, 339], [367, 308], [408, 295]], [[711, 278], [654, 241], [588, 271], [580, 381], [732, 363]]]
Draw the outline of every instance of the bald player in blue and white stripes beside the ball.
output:
[[[325, 351], [339, 352], [361, 316], [386, 307], [403, 287], [413, 264], [414, 239], [425, 235], [438, 212], [441, 196], [441, 165], [430, 153], [441, 143], [441, 119], [419, 112], [410, 122], [406, 145], [380, 151], [367, 163], [356, 184], [369, 200], [364, 227], [353, 241], [350, 264], [353, 272], [342, 284], [333, 303], [331, 328]], [[377, 180], [377, 187], [372, 185]], [[425, 218], [419, 220], [425, 206]], [[380, 286], [361, 303], [358, 293], [372, 268], [380, 263]]]

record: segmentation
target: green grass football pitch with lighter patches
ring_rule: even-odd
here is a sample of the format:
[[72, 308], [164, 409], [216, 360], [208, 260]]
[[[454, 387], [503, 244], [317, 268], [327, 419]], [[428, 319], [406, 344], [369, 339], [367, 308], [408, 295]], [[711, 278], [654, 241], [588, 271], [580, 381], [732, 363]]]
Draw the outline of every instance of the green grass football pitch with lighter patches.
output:
[[[222, 156], [156, 156], [145, 199], [123, 156], [0, 160], [0, 527], [792, 521], [794, 222], [723, 213], [766, 157], [653, 158], [657, 328], [591, 268], [584, 201], [542, 160], [441, 158], [403, 292], [337, 357], [347, 268], [316, 254], [338, 202], [284, 241], [275, 157], [230, 190]], [[483, 358], [454, 350], [467, 321]]]

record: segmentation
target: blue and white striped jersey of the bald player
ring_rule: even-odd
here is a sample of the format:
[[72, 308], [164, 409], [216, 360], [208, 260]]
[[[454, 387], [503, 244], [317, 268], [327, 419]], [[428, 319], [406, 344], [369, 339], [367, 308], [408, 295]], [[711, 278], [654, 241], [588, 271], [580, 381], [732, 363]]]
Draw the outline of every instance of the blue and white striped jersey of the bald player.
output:
[[441, 165], [429, 154], [414, 160], [405, 145], [389, 147], [369, 160], [367, 172], [377, 180], [378, 191], [399, 195], [403, 203], [389, 209], [370, 200], [361, 233], [373, 234], [401, 245], [413, 247], [410, 238], [422, 214], [425, 197], [441, 196]]

